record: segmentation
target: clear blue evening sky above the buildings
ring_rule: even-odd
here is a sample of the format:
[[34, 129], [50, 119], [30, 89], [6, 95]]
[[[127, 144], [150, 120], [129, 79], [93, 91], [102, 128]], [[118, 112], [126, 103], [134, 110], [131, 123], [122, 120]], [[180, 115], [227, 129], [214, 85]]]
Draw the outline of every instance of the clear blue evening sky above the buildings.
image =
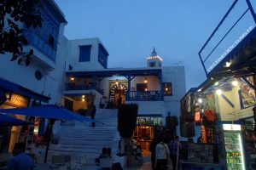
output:
[[[185, 66], [188, 90], [206, 80], [198, 52], [233, 0], [55, 2], [68, 22], [65, 36], [68, 39], [99, 37], [109, 53], [108, 68], [145, 67], [146, 58], [155, 47], [163, 59], [163, 66]], [[247, 27], [240, 30], [235, 41]]]

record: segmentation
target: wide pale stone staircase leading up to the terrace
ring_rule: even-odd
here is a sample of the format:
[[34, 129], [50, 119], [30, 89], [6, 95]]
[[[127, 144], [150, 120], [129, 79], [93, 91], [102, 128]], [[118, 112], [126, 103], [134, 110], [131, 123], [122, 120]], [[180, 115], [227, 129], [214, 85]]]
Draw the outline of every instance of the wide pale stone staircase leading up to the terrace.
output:
[[[55, 132], [59, 144], [50, 144], [49, 159], [52, 155], [86, 156], [86, 164], [94, 164], [95, 158], [102, 153], [102, 147], [111, 147], [113, 154], [118, 147], [117, 110], [98, 109], [96, 123], [75, 122], [60, 126]], [[74, 125], [75, 124], [75, 125]], [[58, 125], [56, 125], [58, 126]], [[48, 159], [48, 160], [49, 160]]]

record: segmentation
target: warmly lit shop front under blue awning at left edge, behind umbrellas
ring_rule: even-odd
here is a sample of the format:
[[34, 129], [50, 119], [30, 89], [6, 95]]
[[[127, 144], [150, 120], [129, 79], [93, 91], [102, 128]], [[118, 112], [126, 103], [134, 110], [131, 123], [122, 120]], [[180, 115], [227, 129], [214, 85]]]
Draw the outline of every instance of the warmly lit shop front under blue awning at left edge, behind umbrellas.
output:
[[[29, 89], [23, 88], [20, 85], [6, 81], [2, 78], [0, 78], [0, 94], [0, 109], [28, 107], [29, 105], [35, 105], [40, 101], [47, 102], [49, 100], [48, 97], [36, 94]], [[38, 100], [38, 102], [36, 100]], [[15, 114], [11, 114], [10, 116], [26, 122], [32, 122], [35, 126], [15, 126], [14, 124], [14, 126], [0, 127], [0, 153], [12, 152], [15, 143], [17, 142], [26, 143], [28, 133], [31, 129], [30, 127], [32, 127], [32, 136], [38, 135], [39, 123], [41, 121], [40, 118], [29, 118]], [[28, 145], [27, 149], [30, 149]]]

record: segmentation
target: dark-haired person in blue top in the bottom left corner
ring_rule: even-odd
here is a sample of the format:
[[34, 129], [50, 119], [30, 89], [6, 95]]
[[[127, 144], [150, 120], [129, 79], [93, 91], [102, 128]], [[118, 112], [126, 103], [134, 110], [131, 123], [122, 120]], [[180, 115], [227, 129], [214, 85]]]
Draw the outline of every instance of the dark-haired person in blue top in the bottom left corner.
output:
[[13, 150], [14, 157], [9, 160], [8, 170], [33, 170], [34, 161], [25, 153], [26, 145], [16, 143]]

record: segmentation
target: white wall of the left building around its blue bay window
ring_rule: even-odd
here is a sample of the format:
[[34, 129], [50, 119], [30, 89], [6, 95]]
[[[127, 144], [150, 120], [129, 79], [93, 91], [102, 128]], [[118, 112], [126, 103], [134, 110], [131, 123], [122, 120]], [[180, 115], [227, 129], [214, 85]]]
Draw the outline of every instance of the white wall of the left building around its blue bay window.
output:
[[[10, 61], [12, 54], [0, 55], [0, 77], [14, 82], [24, 88], [28, 88], [37, 94], [50, 97], [50, 104], [60, 103], [62, 95], [62, 82], [65, 71], [65, 59], [67, 58], [67, 38], [63, 36], [65, 23], [59, 26], [59, 34], [55, 61], [49, 59], [34, 45], [24, 47], [23, 52], [33, 49], [32, 62], [18, 65], [17, 60]], [[35, 71], [43, 75], [41, 80], [35, 77]]]

